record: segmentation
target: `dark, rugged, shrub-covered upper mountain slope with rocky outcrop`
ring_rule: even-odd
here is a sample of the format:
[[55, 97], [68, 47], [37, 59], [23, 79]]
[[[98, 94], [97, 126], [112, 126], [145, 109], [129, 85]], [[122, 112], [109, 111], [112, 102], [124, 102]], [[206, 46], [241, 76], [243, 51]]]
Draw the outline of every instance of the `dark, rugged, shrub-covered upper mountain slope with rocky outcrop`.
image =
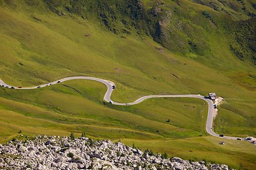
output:
[[[255, 16], [255, 1], [46, 2], [48, 8], [59, 15], [63, 11], [76, 13], [89, 21], [100, 21], [116, 34], [150, 35], [169, 50], [190, 57], [218, 57], [213, 49], [218, 45], [209, 40], [225, 38], [230, 45], [227, 52], [255, 64], [255, 18], [247, 21]], [[250, 35], [240, 36], [248, 31]], [[235, 47], [234, 40], [238, 44]], [[241, 44], [247, 41], [251, 41], [249, 47]]]

